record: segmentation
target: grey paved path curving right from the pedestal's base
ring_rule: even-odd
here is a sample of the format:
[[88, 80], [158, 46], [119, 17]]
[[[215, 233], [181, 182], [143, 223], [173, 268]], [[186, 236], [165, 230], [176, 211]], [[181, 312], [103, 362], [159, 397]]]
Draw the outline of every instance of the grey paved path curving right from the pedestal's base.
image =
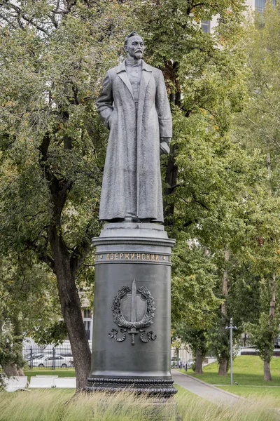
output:
[[190, 375], [180, 373], [180, 371], [172, 370], [172, 377], [176, 385], [179, 385], [184, 389], [187, 389], [190, 392], [193, 392], [198, 396], [218, 405], [232, 406], [245, 400], [241, 396], [226, 392], [223, 389], [218, 389], [218, 387], [209, 385], [208, 383], [202, 382], [202, 380], [198, 380]]

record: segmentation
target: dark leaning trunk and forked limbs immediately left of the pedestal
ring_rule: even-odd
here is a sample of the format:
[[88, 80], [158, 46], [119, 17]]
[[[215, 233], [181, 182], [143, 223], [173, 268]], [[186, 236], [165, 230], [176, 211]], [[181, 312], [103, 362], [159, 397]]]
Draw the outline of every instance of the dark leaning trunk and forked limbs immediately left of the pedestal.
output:
[[[69, 120], [69, 112], [63, 112], [64, 121]], [[76, 287], [75, 279], [78, 267], [89, 250], [87, 235], [84, 241], [76, 246], [75, 250], [69, 252], [62, 234], [62, 210], [66, 203], [72, 180], [58, 179], [52, 173], [48, 162], [48, 148], [50, 147], [51, 135], [45, 133], [40, 146], [41, 169], [43, 178], [48, 180], [48, 187], [52, 198], [52, 225], [48, 227], [48, 242], [52, 250], [52, 258], [43, 256], [45, 262], [51, 265], [57, 277], [57, 288], [59, 293], [62, 315], [66, 324], [69, 341], [76, 368], [77, 390], [83, 390], [87, 385], [87, 376], [90, 374], [90, 346], [88, 345], [85, 325], [80, 307], [80, 298]], [[64, 137], [64, 150], [71, 150], [71, 139]]]

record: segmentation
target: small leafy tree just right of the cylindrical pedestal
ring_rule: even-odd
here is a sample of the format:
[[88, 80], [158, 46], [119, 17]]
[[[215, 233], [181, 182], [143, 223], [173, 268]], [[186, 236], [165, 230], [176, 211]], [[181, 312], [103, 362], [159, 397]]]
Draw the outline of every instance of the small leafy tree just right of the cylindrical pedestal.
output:
[[173, 256], [172, 324], [178, 338], [195, 354], [195, 373], [202, 373], [207, 353], [207, 330], [216, 318], [215, 310], [223, 300], [214, 295], [215, 265], [201, 246], [178, 242]]

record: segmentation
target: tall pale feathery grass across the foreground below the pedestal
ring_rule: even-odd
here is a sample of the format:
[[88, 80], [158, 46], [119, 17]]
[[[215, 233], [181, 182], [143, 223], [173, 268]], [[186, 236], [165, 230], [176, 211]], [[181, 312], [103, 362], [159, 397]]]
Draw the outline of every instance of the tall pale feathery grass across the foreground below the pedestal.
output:
[[[276, 421], [280, 414], [269, 401], [240, 401], [238, 406], [216, 406], [182, 391], [176, 401], [183, 421]], [[175, 421], [174, 404], [155, 408], [151, 400], [122, 394], [80, 394], [69, 390], [41, 389], [0, 393], [1, 421]]]

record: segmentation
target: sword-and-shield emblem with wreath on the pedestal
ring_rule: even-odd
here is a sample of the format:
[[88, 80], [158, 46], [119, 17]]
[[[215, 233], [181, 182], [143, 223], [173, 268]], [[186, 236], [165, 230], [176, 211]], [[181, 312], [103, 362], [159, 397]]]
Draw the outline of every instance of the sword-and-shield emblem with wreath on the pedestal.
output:
[[118, 338], [118, 330], [112, 329], [108, 333], [109, 338], [123, 342], [129, 333], [132, 345], [135, 344], [135, 335], [138, 334], [141, 342], [146, 343], [149, 340], [157, 339], [157, 335], [152, 330], [147, 333], [145, 330], [153, 323], [156, 309], [153, 297], [146, 286], [137, 288], [137, 283], [133, 279], [131, 289], [128, 286], [123, 286], [118, 290], [111, 309], [113, 321], [120, 327], [120, 333], [123, 335]]

